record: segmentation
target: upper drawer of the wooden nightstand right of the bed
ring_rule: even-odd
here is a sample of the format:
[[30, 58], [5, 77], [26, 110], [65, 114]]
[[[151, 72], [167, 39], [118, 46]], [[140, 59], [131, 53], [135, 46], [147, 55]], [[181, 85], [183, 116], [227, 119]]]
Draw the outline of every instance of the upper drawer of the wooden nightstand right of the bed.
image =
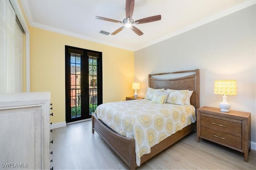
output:
[[232, 121], [203, 116], [201, 115], [201, 126], [218, 129], [224, 132], [232, 133], [234, 135], [242, 136], [242, 124]]

